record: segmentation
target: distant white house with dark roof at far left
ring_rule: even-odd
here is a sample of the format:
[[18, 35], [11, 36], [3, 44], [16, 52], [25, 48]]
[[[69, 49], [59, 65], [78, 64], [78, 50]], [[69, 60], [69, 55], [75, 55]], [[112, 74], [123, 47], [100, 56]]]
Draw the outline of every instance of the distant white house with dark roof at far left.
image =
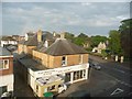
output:
[[16, 45], [18, 41], [14, 40], [12, 36], [2, 36], [1, 38], [1, 46], [8, 46], [8, 45]]

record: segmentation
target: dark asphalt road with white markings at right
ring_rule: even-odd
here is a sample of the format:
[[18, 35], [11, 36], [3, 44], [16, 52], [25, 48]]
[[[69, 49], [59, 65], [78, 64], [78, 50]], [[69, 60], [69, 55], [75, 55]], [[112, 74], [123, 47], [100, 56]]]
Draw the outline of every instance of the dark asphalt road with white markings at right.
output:
[[101, 66], [101, 73], [109, 75], [117, 81], [112, 88], [106, 89], [97, 97], [130, 97], [132, 96], [132, 70], [122, 64], [107, 62], [99, 57], [90, 56], [90, 61], [98, 62]]

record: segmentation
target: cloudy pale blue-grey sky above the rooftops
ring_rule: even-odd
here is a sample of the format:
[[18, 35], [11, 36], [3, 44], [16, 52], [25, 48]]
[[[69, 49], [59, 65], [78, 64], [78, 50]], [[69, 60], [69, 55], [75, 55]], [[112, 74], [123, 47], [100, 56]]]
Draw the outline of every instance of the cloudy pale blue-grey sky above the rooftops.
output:
[[2, 35], [43, 30], [108, 36], [130, 18], [129, 2], [2, 2], [0, 7]]

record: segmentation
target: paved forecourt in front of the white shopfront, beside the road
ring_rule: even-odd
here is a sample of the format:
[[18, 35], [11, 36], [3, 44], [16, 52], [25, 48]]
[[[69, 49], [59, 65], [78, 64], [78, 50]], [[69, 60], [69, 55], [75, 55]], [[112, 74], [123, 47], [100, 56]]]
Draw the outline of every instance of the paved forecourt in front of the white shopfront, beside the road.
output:
[[72, 84], [64, 94], [58, 95], [58, 97], [68, 97], [69, 95], [72, 95], [72, 92], [76, 92], [79, 90], [82, 90], [82, 92], [87, 91], [87, 94], [90, 94], [90, 97], [95, 97], [102, 91], [112, 88], [117, 85], [117, 82], [118, 81], [116, 81], [113, 77], [105, 75], [103, 73], [91, 68], [89, 79]]

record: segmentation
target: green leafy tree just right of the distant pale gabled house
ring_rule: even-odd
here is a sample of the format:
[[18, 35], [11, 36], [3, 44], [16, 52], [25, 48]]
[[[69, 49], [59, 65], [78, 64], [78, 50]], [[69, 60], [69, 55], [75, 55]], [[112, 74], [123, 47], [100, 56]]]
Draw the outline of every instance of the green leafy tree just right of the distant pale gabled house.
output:
[[109, 33], [109, 48], [112, 54], [120, 55], [122, 53], [120, 33], [117, 30], [111, 30]]

